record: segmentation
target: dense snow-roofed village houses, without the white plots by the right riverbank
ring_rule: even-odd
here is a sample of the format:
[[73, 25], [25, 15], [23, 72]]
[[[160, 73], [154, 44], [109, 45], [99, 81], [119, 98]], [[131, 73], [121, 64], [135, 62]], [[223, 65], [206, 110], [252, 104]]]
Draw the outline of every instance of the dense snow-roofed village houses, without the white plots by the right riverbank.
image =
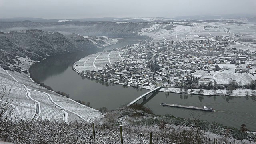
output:
[[[229, 47], [226, 36], [206, 40], [157, 41], [116, 49], [123, 60], [91, 72], [106, 80], [133, 86], [184, 87], [196, 71], [234, 69], [255, 73], [254, 52]], [[217, 66], [216, 64], [222, 64]], [[229, 65], [225, 65], [229, 64]], [[234, 64], [234, 67], [230, 67]]]

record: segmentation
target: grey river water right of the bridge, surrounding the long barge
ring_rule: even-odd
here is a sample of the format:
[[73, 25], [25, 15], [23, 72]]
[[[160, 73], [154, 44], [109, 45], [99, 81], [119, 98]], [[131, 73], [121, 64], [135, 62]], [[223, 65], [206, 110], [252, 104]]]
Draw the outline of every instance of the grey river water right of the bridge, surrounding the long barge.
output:
[[[160, 92], [147, 102], [145, 106], [149, 106], [156, 114], [172, 114], [178, 117], [191, 118], [190, 114], [194, 112], [203, 120], [220, 122], [237, 128], [241, 124], [246, 124], [250, 130], [256, 130], [255, 99], [256, 96], [198, 96]], [[140, 102], [142, 100], [138, 101], [138, 103]], [[208, 106], [214, 108], [214, 112], [162, 107], [160, 106], [162, 102], [185, 106]]]

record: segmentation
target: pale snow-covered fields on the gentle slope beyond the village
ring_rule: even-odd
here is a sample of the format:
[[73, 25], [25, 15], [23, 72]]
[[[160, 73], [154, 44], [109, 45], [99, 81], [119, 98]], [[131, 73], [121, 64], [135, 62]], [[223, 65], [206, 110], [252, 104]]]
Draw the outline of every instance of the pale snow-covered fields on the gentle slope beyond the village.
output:
[[[176, 26], [165, 29], [168, 24], [153, 24], [150, 28], [142, 28], [138, 35], [146, 35], [157, 40], [186, 40], [215, 36], [233, 36], [233, 34], [256, 35], [256, 26], [252, 24], [230, 24], [221, 22], [194, 23], [196, 26]], [[214, 26], [216, 28], [210, 28]], [[204, 29], [204, 27], [206, 27]], [[229, 33], [228, 33], [229, 28]]]

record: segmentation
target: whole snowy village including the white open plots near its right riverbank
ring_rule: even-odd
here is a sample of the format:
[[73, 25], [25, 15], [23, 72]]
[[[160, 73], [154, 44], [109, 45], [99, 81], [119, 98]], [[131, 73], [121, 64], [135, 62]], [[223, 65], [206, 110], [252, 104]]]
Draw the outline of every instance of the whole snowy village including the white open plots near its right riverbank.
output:
[[[106, 64], [90, 76], [129, 86], [226, 89], [230, 82], [246, 88], [256, 78], [255, 50], [229, 36], [201, 40], [156, 41], [116, 48], [122, 60]], [[209, 86], [210, 85], [210, 86]]]

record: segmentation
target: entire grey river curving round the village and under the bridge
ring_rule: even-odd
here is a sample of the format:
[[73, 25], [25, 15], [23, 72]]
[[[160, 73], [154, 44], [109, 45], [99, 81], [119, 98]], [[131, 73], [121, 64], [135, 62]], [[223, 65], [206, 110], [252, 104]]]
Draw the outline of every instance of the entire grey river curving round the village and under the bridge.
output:
[[[135, 44], [139, 40], [138, 38], [126, 38], [123, 42], [106, 47], [105, 50]], [[32, 65], [30, 73], [54, 90], [70, 94], [72, 99], [90, 102], [92, 108], [106, 107], [108, 110], [115, 110], [149, 91], [82, 78], [72, 70], [74, 62], [95, 52], [96, 50], [83, 51], [47, 58]], [[148, 100], [144, 102], [140, 100], [138, 103], [148, 106], [155, 114], [172, 114], [176, 117], [192, 118], [190, 115], [193, 112], [198, 114], [201, 120], [215, 121], [236, 128], [240, 128], [241, 124], [246, 124], [247, 128], [256, 131], [256, 97], [198, 96], [158, 92], [153, 95], [149, 94], [147, 98]], [[213, 107], [214, 112], [163, 107], [160, 106], [162, 102], [186, 106], [208, 106]]]

